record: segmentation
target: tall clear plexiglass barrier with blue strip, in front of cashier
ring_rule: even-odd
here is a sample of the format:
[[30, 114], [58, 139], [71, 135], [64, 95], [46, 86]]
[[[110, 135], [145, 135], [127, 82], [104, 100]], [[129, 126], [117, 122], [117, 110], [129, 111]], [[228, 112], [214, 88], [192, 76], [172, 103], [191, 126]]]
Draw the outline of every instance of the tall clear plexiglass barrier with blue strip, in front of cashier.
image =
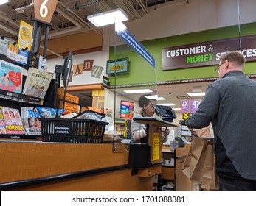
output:
[[113, 96], [114, 102], [113, 151], [128, 152], [132, 138], [131, 120], [142, 113], [139, 97], [146, 93], [157, 95], [156, 63], [151, 50], [140, 43], [129, 28], [120, 30], [117, 24], [109, 56], [108, 95]]

